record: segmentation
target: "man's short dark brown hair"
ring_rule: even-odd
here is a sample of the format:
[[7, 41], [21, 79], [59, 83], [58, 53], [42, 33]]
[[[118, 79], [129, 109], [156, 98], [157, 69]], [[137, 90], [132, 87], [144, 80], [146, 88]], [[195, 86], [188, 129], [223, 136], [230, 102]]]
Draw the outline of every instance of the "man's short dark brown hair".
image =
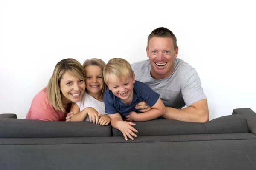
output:
[[159, 38], [172, 38], [173, 46], [174, 49], [176, 50], [177, 47], [177, 38], [175, 37], [175, 34], [172, 33], [167, 28], [164, 27], [159, 27], [157, 29], [154, 29], [148, 36], [148, 45], [149, 45], [149, 40], [153, 37], [159, 37]]

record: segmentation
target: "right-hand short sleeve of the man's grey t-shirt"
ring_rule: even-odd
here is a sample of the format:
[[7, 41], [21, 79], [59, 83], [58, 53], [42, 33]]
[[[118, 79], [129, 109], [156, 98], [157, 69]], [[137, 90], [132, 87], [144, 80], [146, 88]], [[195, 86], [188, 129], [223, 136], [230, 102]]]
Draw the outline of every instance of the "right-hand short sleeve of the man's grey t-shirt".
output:
[[200, 78], [195, 69], [191, 69], [183, 77], [181, 93], [187, 106], [190, 106], [202, 99], [207, 99], [204, 94]]

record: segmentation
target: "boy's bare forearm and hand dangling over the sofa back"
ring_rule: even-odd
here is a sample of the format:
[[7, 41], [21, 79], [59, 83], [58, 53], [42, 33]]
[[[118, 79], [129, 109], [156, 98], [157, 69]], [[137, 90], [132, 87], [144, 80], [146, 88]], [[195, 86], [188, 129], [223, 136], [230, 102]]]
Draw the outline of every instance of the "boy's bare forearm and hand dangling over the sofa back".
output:
[[120, 113], [108, 114], [108, 116], [111, 119], [112, 127], [119, 129], [123, 133], [125, 140], [128, 140], [127, 136], [131, 140], [134, 140], [132, 136], [137, 137], [137, 135], [135, 135], [134, 132], [138, 132], [138, 131], [131, 126], [131, 125], [136, 125], [135, 123], [123, 121]]

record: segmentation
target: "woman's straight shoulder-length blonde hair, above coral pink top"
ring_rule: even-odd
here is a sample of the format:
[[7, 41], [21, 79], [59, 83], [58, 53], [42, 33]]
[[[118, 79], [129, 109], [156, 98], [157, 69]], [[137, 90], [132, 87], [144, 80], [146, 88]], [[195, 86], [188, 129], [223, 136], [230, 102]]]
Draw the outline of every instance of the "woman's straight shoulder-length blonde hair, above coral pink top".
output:
[[[76, 59], [63, 59], [58, 62], [46, 88], [49, 103], [55, 110], [65, 111], [61, 101], [60, 82], [62, 75], [66, 72], [85, 81], [84, 68]], [[81, 97], [81, 102], [84, 102], [84, 97], [85, 93]]]

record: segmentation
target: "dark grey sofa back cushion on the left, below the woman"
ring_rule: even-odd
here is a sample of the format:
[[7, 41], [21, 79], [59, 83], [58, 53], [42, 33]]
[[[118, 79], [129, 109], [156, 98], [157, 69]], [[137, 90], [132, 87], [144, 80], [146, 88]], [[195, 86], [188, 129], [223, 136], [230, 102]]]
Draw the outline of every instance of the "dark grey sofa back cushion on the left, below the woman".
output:
[[111, 125], [91, 122], [51, 122], [28, 119], [0, 119], [0, 138], [50, 138], [111, 136]]

